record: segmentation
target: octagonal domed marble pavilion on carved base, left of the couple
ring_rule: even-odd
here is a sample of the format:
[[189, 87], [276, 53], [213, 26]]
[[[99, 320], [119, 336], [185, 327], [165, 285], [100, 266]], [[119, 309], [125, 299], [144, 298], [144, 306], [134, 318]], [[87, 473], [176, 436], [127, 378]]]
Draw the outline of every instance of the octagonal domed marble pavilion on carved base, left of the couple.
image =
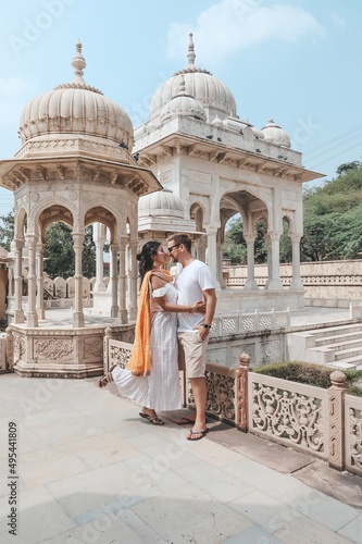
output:
[[[84, 376], [102, 372], [104, 326], [85, 327], [82, 252], [85, 227], [104, 224], [111, 247], [111, 316], [126, 324], [137, 311], [138, 199], [162, 188], [149, 169], [133, 158], [134, 131], [124, 110], [83, 78], [82, 45], [72, 62], [75, 77], [32, 100], [21, 116], [22, 148], [0, 162], [1, 185], [14, 193], [15, 256], [13, 320], [8, 353], [23, 374]], [[43, 244], [49, 224], [73, 230], [75, 295], [73, 323], [60, 330], [39, 326], [43, 311]], [[23, 302], [23, 248], [27, 248], [27, 308]], [[126, 252], [132, 270], [126, 308]], [[118, 264], [117, 264], [118, 263]], [[120, 286], [120, 288], [118, 288]], [[125, 331], [129, 330], [124, 326]], [[121, 332], [122, 336], [122, 326]]]

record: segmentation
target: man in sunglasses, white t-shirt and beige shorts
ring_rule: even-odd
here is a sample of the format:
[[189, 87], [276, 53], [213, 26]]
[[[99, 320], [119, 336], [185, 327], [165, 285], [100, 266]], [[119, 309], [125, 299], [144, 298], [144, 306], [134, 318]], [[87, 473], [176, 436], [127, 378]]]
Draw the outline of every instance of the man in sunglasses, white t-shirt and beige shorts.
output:
[[[172, 260], [179, 263], [175, 276], [178, 305], [194, 305], [205, 301], [205, 313], [178, 313], [177, 336], [180, 358], [185, 359], [186, 372], [191, 385], [196, 418], [187, 440], [198, 441], [209, 431], [207, 428], [207, 383], [204, 379], [205, 353], [210, 327], [215, 313], [215, 283], [209, 267], [194, 259], [191, 238], [188, 234], [173, 234], [167, 240], [167, 249]], [[179, 270], [180, 269], [180, 270]]]

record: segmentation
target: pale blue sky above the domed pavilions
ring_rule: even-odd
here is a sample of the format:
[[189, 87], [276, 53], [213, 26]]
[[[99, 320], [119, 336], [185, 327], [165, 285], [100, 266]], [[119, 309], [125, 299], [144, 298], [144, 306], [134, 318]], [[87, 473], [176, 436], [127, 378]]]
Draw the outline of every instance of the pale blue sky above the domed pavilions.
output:
[[[0, 0], [0, 160], [21, 147], [24, 106], [72, 82], [78, 39], [86, 83], [137, 126], [158, 86], [187, 64], [189, 32], [196, 63], [229, 87], [240, 119], [261, 128], [273, 118], [305, 168], [332, 180], [339, 164], [362, 160], [358, 0]], [[12, 202], [0, 189], [0, 215]]]

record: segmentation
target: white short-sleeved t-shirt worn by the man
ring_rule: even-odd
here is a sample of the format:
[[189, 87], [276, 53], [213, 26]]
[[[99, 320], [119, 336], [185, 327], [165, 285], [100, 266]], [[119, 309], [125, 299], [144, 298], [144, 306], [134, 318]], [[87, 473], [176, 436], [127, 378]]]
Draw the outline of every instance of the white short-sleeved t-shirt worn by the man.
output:
[[[215, 282], [209, 267], [198, 259], [195, 259], [185, 268], [180, 267], [180, 264], [177, 265], [174, 284], [177, 289], [177, 304], [183, 306], [195, 305], [195, 302], [204, 300], [202, 292], [215, 288]], [[203, 319], [202, 313], [177, 313], [177, 331], [192, 331], [195, 326], [203, 323]]]

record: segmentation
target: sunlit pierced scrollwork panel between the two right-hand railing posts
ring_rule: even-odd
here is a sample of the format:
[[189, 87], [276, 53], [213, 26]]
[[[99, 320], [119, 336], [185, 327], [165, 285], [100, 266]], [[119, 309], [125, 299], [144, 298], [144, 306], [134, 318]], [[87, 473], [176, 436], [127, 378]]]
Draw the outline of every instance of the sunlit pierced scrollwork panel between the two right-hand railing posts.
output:
[[251, 400], [254, 430], [324, 452], [321, 399], [253, 383]]

